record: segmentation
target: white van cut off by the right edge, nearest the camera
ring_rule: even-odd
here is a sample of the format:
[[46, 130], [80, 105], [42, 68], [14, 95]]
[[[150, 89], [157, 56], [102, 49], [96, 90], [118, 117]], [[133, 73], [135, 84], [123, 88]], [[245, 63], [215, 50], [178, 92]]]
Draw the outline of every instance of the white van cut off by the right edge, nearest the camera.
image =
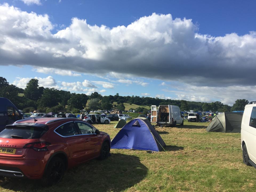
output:
[[256, 101], [245, 106], [241, 124], [243, 162], [256, 168]]

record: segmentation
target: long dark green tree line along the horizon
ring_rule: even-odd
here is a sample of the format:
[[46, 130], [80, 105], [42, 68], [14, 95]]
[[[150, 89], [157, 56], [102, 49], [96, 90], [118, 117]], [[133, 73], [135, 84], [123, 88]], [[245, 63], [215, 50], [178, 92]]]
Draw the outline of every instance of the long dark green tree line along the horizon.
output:
[[[24, 94], [22, 97], [19, 94]], [[116, 95], [102, 96], [101, 94], [94, 92], [91, 95], [70, 93], [70, 91], [57, 90], [55, 88], [39, 87], [38, 79], [30, 79], [25, 89], [16, 87], [13, 84], [9, 84], [6, 78], [0, 77], [0, 97], [5, 97], [14, 103], [19, 109], [23, 109], [23, 112], [31, 112], [37, 109], [40, 112], [57, 112], [59, 110], [67, 110], [67, 112], [79, 113], [79, 110], [110, 110], [119, 109], [125, 110], [123, 103], [130, 103], [135, 105], [176, 105], [179, 106], [182, 111], [194, 110], [194, 111], [242, 111], [244, 106], [248, 103], [246, 99], [237, 99], [234, 105], [224, 105], [223, 103], [216, 101], [211, 103], [194, 102], [185, 100], [172, 100], [172, 99], [160, 99], [151, 97], [139, 97], [139, 96], [120, 96]], [[87, 101], [88, 104], [87, 104]], [[113, 105], [113, 102], [117, 102]], [[87, 104], [87, 105], [86, 105]], [[131, 108], [132, 109], [132, 108]], [[135, 109], [142, 112], [145, 110], [143, 107]]]

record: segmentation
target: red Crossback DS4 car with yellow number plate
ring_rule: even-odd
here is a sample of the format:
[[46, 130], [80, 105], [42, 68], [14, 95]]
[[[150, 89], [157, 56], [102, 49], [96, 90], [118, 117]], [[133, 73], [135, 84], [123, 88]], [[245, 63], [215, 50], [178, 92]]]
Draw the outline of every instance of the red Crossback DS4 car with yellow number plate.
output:
[[0, 175], [46, 185], [58, 183], [67, 168], [106, 159], [111, 146], [107, 133], [75, 118], [22, 119], [7, 125], [0, 140]]

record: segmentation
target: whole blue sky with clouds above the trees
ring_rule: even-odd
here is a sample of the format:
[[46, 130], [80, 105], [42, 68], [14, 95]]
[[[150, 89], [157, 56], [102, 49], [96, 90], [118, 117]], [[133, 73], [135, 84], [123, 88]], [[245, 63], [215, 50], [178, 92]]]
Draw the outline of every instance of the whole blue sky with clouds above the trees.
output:
[[255, 5], [0, 0], [0, 76], [87, 95], [255, 101]]

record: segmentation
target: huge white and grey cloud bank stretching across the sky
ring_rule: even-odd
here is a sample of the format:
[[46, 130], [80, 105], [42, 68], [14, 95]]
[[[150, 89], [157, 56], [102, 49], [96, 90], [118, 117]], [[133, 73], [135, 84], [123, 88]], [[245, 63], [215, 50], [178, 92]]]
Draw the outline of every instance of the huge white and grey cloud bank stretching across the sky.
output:
[[254, 31], [213, 37], [199, 34], [191, 19], [153, 13], [113, 28], [73, 18], [70, 26], [54, 34], [48, 15], [27, 13], [7, 3], [0, 5], [0, 18], [0, 65], [44, 66], [119, 79], [175, 80], [199, 87], [254, 85]]

